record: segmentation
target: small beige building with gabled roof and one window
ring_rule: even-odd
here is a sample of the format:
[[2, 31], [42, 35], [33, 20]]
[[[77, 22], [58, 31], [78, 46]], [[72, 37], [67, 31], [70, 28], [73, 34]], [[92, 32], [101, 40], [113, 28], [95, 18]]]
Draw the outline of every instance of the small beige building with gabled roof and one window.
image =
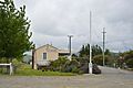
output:
[[65, 50], [59, 50], [50, 44], [43, 45], [32, 53], [32, 67], [37, 69], [38, 65], [48, 65], [49, 61], [55, 61], [59, 56], [68, 56], [70, 53]]

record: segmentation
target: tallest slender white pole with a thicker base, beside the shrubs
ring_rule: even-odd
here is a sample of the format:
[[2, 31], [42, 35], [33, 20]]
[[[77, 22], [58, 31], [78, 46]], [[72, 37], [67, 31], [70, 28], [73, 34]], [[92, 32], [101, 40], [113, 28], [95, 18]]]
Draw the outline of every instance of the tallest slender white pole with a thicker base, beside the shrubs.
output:
[[92, 47], [91, 47], [91, 38], [92, 38], [92, 35], [91, 35], [91, 11], [90, 11], [90, 63], [89, 63], [89, 74], [92, 74]]

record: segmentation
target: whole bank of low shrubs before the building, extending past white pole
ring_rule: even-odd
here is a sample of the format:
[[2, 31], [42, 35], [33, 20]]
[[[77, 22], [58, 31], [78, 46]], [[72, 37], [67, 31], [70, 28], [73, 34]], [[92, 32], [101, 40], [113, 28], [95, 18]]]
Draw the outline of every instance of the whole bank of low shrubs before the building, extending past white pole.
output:
[[[88, 74], [89, 73], [89, 63], [88, 59], [81, 61], [81, 58], [74, 58], [69, 61], [66, 58], [60, 57], [59, 59], [51, 62], [49, 70], [62, 72], [62, 73], [74, 73], [74, 74]], [[94, 67], [93, 73], [100, 74], [99, 67]], [[44, 68], [43, 70], [48, 70]]]

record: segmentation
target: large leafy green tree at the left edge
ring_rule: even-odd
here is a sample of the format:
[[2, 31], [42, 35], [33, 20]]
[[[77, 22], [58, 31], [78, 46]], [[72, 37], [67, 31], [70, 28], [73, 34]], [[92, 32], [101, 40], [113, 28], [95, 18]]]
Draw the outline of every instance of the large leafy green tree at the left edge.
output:
[[0, 1], [0, 57], [22, 57], [24, 52], [33, 48], [29, 28], [25, 6], [17, 10], [12, 0]]

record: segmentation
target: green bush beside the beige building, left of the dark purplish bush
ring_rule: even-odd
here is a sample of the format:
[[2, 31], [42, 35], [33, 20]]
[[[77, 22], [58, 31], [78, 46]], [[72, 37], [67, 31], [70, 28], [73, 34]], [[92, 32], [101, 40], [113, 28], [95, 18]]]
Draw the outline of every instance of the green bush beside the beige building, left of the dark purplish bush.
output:
[[59, 59], [51, 62], [49, 67], [49, 70], [81, 74], [80, 63], [76, 59], [69, 61], [65, 57], [59, 57]]

